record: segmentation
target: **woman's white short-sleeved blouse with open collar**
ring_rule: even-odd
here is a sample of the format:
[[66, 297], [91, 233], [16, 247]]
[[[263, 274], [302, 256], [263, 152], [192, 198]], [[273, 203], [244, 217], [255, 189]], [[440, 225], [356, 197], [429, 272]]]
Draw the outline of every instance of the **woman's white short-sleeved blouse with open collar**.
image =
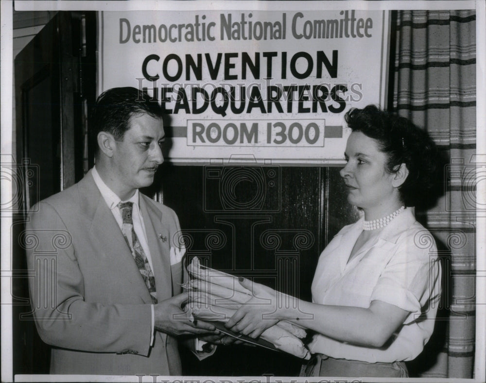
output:
[[[347, 263], [363, 219], [345, 226], [322, 252], [312, 281], [312, 301], [368, 308], [371, 301], [409, 311], [382, 348], [356, 346], [314, 335], [309, 349], [333, 358], [369, 363], [412, 360], [434, 330], [440, 298], [440, 264], [430, 232], [405, 209]], [[366, 329], [363, 329], [366, 331]]]

